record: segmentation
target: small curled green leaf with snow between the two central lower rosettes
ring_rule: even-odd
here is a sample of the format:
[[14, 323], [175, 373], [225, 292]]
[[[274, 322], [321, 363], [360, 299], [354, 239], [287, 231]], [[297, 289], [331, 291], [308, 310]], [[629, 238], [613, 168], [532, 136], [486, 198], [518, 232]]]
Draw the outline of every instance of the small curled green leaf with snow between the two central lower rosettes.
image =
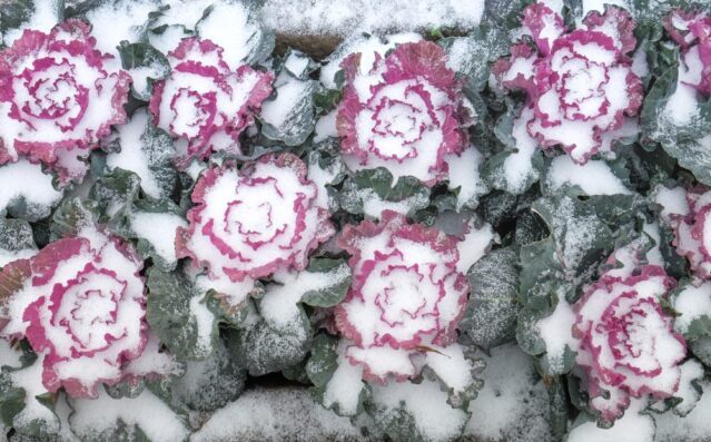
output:
[[313, 258], [306, 271], [323, 274], [330, 281], [325, 287], [304, 293], [303, 303], [313, 307], [333, 307], [346, 297], [350, 287], [350, 267], [345, 259]]

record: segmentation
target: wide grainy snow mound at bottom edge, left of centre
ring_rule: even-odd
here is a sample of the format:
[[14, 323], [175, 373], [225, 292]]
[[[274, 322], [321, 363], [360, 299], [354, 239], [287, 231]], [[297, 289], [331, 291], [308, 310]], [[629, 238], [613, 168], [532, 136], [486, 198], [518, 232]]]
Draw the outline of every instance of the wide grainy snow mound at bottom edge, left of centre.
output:
[[191, 442], [358, 440], [348, 418], [316, 403], [306, 389], [257, 387], [218, 410]]

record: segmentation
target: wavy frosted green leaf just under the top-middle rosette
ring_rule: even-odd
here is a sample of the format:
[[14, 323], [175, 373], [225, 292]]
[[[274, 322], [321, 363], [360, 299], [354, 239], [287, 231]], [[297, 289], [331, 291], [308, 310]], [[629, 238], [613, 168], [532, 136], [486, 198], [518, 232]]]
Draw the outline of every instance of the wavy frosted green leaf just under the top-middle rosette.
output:
[[[429, 188], [415, 177], [401, 177], [393, 184], [393, 174], [384, 167], [357, 170], [346, 178], [339, 195], [340, 207], [354, 214], [366, 212], [366, 203], [381, 200], [403, 203], [409, 207], [408, 215], [422, 210], [429, 205]], [[379, 205], [377, 205], [379, 208]], [[368, 210], [366, 215], [377, 217], [378, 210]]]

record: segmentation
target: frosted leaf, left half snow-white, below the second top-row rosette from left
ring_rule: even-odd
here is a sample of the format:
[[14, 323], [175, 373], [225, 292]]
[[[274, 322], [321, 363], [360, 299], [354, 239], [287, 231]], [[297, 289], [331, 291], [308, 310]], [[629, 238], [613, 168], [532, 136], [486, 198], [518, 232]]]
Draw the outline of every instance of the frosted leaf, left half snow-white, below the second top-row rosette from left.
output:
[[168, 134], [155, 127], [146, 109], [138, 109], [131, 120], [119, 126], [110, 138], [118, 150], [106, 158], [108, 168], [130, 170], [140, 178], [140, 187], [152, 198], [167, 197], [176, 186], [177, 171], [172, 167], [175, 147]]

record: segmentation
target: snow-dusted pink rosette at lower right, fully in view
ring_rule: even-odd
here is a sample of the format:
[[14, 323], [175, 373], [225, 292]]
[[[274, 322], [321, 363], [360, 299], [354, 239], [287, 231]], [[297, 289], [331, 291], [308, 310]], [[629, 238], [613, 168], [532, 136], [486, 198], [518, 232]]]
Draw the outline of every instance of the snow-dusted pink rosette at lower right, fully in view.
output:
[[662, 267], [634, 263], [604, 272], [575, 304], [575, 372], [602, 421], [621, 418], [631, 397], [662, 400], [679, 389], [687, 344], [660, 303], [675, 285]]

